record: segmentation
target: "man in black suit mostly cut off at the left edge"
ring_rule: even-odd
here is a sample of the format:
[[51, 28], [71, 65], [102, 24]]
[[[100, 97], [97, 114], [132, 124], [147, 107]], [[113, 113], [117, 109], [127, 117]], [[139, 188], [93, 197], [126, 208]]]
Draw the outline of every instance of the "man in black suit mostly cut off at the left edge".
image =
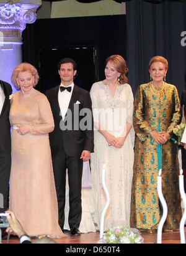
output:
[[9, 207], [9, 176], [11, 172], [11, 125], [9, 122], [12, 87], [0, 80], [0, 212]]

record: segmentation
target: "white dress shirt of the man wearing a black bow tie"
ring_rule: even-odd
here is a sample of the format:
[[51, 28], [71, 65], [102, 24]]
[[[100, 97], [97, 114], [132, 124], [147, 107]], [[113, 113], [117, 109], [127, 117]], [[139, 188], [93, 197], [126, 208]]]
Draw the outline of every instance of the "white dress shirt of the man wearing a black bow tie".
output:
[[[64, 85], [61, 83], [60, 87], [64, 87]], [[71, 85], [68, 85], [68, 87], [72, 87], [71, 92], [68, 92], [67, 90], [64, 90], [61, 92], [59, 87], [59, 92], [58, 92], [58, 102], [60, 105], [60, 111], [61, 111], [61, 116], [64, 120], [64, 117], [66, 115], [66, 112], [68, 110], [68, 105], [71, 100], [71, 96], [73, 93], [73, 88], [74, 88], [74, 83], [71, 83]]]

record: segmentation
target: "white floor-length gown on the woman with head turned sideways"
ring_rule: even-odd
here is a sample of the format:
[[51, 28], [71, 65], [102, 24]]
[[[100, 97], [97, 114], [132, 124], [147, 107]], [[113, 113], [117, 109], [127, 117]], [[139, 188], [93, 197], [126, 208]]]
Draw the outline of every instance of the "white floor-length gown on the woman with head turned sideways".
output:
[[[126, 121], [132, 125], [133, 93], [127, 83], [117, 87], [114, 97], [108, 85], [103, 82], [94, 83], [91, 88], [91, 99], [95, 126], [96, 122], [100, 123], [109, 133], [119, 137]], [[102, 119], [102, 113], [100, 116], [97, 115], [97, 111], [99, 113], [105, 111], [105, 120]], [[126, 114], [125, 125], [122, 123], [122, 111]], [[96, 129], [94, 131], [95, 146], [94, 153], [91, 154], [91, 182], [95, 196], [94, 219], [98, 228], [100, 228], [100, 218], [106, 204], [105, 191], [102, 186], [102, 168], [104, 164], [106, 165], [105, 184], [110, 195], [110, 204], [105, 214], [104, 230], [118, 225], [130, 224], [134, 138], [135, 133], [132, 128], [123, 147], [115, 148], [108, 146], [107, 140], [99, 131]]]

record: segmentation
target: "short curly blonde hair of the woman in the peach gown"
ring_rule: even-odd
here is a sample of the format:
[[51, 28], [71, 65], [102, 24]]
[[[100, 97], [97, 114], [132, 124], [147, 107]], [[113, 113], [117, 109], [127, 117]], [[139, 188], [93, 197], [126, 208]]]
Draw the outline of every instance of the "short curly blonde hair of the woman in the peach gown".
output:
[[15, 69], [12, 73], [11, 80], [14, 83], [15, 87], [19, 88], [19, 85], [17, 84], [17, 77], [19, 76], [19, 72], [25, 72], [25, 71], [28, 71], [33, 75], [33, 77], [34, 77], [33, 87], [35, 87], [39, 80], [38, 72], [37, 72], [37, 69], [35, 69], [35, 67], [33, 67], [33, 65], [31, 65], [27, 62], [23, 62], [22, 64], [15, 67]]

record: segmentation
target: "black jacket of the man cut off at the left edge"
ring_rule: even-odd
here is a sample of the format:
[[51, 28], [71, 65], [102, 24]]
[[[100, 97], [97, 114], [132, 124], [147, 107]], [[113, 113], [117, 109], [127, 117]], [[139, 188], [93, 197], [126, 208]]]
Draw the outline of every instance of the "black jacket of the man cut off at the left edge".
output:
[[0, 115], [0, 152], [11, 152], [11, 125], [9, 121], [10, 100], [12, 87], [9, 83], [0, 80], [5, 95], [4, 105]]

